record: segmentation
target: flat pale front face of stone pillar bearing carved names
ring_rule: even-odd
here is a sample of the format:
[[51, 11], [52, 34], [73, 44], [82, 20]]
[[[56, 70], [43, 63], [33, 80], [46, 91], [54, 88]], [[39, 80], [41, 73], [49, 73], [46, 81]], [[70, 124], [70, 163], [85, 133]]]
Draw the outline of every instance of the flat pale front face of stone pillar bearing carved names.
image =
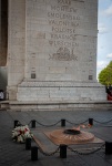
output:
[[[27, 0], [26, 8], [26, 77], [30, 79], [34, 54], [38, 81], [85, 81], [90, 68], [94, 69], [91, 73], [94, 80], [96, 28], [91, 31], [90, 27], [96, 24], [96, 19], [89, 20], [92, 17], [90, 3], [84, 0]], [[58, 71], [61, 66], [61, 72], [52, 73], [55, 66]], [[68, 71], [72, 71], [69, 76]]]

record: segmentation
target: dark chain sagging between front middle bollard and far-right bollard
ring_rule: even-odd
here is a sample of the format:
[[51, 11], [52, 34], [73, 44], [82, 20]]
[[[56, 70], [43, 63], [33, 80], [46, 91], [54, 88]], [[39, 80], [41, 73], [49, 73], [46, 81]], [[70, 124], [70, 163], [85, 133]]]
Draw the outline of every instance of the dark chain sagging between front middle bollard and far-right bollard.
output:
[[[94, 153], [101, 151], [104, 146], [105, 146], [105, 144], [103, 144], [101, 147], [98, 147], [96, 149], [92, 148], [93, 151], [92, 151], [92, 152], [88, 152], [88, 153], [79, 152], [79, 151], [73, 149], [72, 147], [69, 147], [69, 146], [68, 146], [68, 148], [69, 148], [71, 152], [77, 153], [77, 154], [79, 154], [79, 155], [91, 155], [91, 154], [94, 154]], [[88, 148], [86, 148], [86, 149], [88, 149]]]

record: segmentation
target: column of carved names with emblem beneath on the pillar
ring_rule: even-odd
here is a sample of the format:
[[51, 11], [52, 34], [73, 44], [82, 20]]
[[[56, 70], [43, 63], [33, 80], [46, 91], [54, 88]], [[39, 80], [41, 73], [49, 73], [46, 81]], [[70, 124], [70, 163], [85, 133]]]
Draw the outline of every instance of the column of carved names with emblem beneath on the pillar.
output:
[[74, 48], [79, 46], [75, 34], [79, 21], [78, 9], [71, 6], [71, 0], [57, 0], [57, 4], [50, 4], [50, 11], [48, 11], [48, 22], [51, 27], [49, 44], [57, 48], [55, 53], [49, 54], [50, 60], [78, 61]]

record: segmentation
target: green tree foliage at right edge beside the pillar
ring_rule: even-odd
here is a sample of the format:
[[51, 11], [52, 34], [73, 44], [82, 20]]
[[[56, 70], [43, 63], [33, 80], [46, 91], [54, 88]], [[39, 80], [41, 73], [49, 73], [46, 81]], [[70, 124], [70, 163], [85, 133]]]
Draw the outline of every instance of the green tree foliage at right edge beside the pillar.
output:
[[112, 61], [99, 73], [99, 82], [103, 85], [112, 85]]

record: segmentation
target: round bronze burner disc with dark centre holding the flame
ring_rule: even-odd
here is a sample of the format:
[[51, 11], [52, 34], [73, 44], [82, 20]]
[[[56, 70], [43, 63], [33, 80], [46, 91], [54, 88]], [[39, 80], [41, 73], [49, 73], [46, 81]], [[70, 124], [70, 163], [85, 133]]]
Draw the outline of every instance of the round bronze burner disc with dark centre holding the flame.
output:
[[50, 132], [48, 136], [53, 143], [65, 145], [89, 143], [94, 139], [93, 134], [75, 128], [55, 129]]

